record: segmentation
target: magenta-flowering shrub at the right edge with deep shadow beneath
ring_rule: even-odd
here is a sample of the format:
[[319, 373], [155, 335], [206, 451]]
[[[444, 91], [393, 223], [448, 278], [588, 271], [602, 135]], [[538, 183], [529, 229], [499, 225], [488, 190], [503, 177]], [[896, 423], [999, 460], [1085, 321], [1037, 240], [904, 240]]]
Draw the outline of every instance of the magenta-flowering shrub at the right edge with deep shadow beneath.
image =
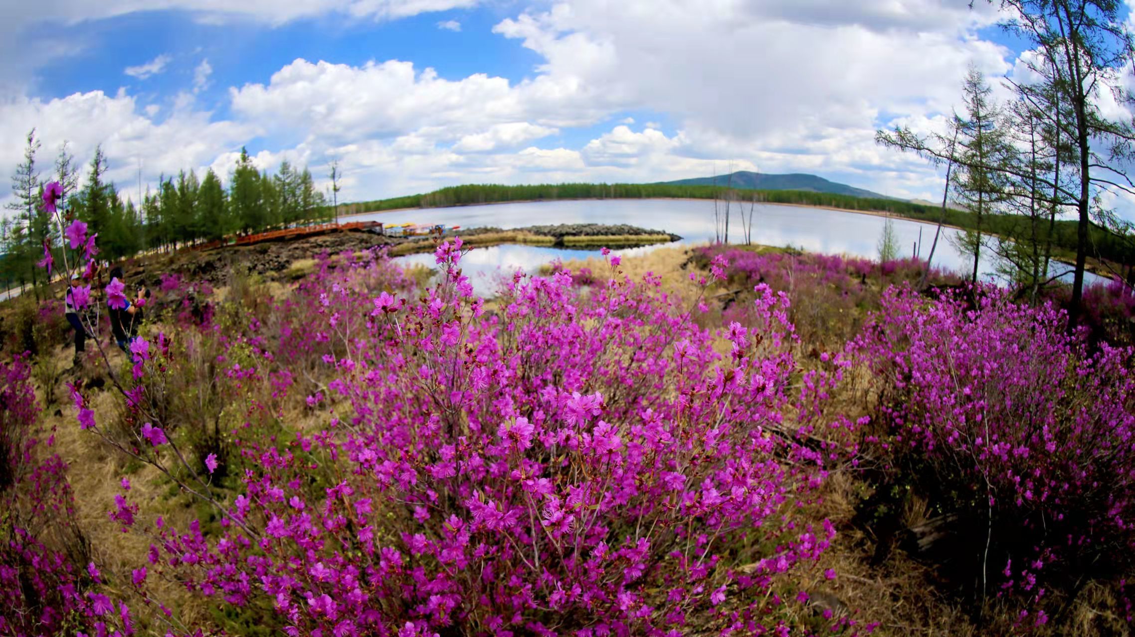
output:
[[874, 450], [931, 472], [934, 506], [977, 536], [972, 576], [1043, 623], [1052, 591], [1135, 566], [1133, 350], [1088, 350], [1051, 305], [973, 297], [891, 289], [849, 349], [882, 392]]

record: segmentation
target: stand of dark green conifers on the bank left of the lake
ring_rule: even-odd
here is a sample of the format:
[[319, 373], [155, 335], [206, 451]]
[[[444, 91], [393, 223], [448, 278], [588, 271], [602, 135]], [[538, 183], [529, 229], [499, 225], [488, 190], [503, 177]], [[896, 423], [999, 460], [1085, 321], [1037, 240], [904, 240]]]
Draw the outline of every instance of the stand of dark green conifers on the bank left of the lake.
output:
[[141, 205], [135, 205], [107, 181], [101, 148], [95, 150], [82, 186], [66, 148], [54, 170], [41, 176], [35, 167], [37, 148], [30, 136], [25, 160], [12, 178], [16, 201], [8, 207], [15, 215], [0, 220], [0, 289], [30, 283], [39, 294], [45, 273], [36, 263], [43, 258], [44, 244], [61, 263], [59, 227], [42, 202], [43, 187], [50, 181], [62, 185], [65, 214], [85, 221], [89, 232], [99, 235], [100, 257], [111, 261], [235, 233], [327, 221], [335, 215], [306, 168], [283, 162], [275, 175], [261, 172], [243, 150], [227, 188], [212, 170], [202, 179], [193, 171], [182, 171], [162, 177], [158, 190], [148, 189]]

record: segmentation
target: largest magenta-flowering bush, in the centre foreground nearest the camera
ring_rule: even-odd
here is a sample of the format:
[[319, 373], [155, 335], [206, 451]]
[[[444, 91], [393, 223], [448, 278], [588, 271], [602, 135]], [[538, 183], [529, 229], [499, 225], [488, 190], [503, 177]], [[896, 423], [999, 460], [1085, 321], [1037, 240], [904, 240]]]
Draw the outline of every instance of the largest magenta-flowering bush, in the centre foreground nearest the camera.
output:
[[[722, 356], [651, 277], [579, 294], [563, 272], [518, 275], [488, 312], [461, 255], [443, 244], [443, 281], [418, 294], [381, 255], [325, 260], [275, 325], [226, 329], [218, 376], [271, 385], [241, 409], [230, 459], [185, 461], [150, 419], [176, 349], [134, 353], [131, 452], [222, 518], [212, 533], [159, 520], [151, 572], [268, 604], [262, 621], [293, 635], [787, 629], [777, 586], [834, 534], [799, 513], [825, 457], [785, 418], [787, 297], [759, 288], [763, 328], [732, 325]], [[312, 359], [331, 375], [305, 404], [329, 423], [276, 435], [294, 384], [280, 374]], [[239, 483], [224, 496], [226, 469]]]

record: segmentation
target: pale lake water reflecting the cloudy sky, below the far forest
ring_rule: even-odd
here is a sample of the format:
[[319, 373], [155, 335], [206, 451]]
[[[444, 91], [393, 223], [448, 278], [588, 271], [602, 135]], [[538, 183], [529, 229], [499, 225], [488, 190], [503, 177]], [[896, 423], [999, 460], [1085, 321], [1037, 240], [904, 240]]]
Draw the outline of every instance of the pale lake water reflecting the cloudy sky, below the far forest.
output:
[[[749, 207], [742, 211], [748, 215]], [[496, 227], [502, 229], [556, 223], [628, 223], [683, 237], [680, 244], [711, 241], [713, 202], [681, 199], [602, 199], [557, 201], [538, 203], [490, 204], [477, 206], [423, 209], [352, 216], [351, 220], [375, 220], [386, 223], [442, 223], [462, 228]], [[846, 254], [875, 258], [884, 219], [869, 214], [804, 206], [757, 204], [753, 211], [753, 243], [770, 246], [796, 246], [824, 254]], [[922, 240], [922, 254], [930, 252], [935, 227], [927, 223], [894, 219], [899, 255], [909, 256]], [[460, 233], [460, 232], [459, 232]], [[972, 261], [962, 257], [949, 241], [956, 230], [943, 229], [934, 252], [934, 265], [958, 272], [972, 270]], [[730, 240], [743, 240], [737, 207], [730, 224]], [[642, 254], [657, 246], [613, 250], [616, 254]], [[518, 267], [535, 272], [555, 258], [564, 261], [598, 254], [598, 249], [560, 249], [537, 246], [504, 245], [477, 248], [462, 260], [464, 272], [473, 280], [478, 294], [491, 290], [488, 278], [498, 272], [511, 274]], [[987, 252], [987, 250], [986, 250]], [[400, 257], [410, 263], [434, 266], [432, 255]], [[1060, 264], [1057, 264], [1060, 266]], [[994, 264], [982, 258], [982, 278], [992, 278]], [[1088, 281], [1094, 280], [1090, 277]]]

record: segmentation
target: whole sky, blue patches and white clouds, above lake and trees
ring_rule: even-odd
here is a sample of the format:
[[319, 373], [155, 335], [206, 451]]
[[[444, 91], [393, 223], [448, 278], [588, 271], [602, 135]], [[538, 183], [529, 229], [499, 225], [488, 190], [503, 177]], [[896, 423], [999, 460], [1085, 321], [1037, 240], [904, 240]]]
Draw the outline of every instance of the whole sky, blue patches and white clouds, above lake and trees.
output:
[[[102, 144], [134, 187], [242, 146], [348, 199], [469, 182], [814, 172], [938, 198], [880, 148], [1022, 43], [961, 0], [43, 0], [0, 8], [0, 162]], [[49, 17], [44, 17], [49, 16]], [[427, 70], [431, 69], [431, 70]], [[7, 189], [0, 186], [0, 197]]]

